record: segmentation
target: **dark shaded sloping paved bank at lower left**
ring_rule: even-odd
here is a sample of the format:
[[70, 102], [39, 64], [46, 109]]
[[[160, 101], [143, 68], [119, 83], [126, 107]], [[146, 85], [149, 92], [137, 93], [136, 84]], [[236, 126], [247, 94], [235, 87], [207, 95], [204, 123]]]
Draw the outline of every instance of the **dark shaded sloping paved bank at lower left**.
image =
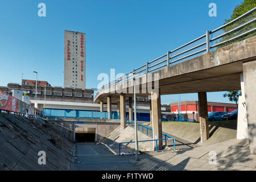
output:
[[[38, 164], [39, 151], [46, 152], [46, 165]], [[0, 170], [69, 170], [72, 152], [73, 144], [50, 123], [0, 114]]]

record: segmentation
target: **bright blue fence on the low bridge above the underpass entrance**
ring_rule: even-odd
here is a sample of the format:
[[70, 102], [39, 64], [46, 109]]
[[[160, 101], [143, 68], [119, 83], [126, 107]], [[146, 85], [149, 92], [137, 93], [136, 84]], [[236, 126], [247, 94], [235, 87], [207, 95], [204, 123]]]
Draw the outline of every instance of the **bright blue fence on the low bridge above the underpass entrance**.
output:
[[44, 109], [44, 117], [120, 119], [117, 112], [101, 112], [70, 109]]

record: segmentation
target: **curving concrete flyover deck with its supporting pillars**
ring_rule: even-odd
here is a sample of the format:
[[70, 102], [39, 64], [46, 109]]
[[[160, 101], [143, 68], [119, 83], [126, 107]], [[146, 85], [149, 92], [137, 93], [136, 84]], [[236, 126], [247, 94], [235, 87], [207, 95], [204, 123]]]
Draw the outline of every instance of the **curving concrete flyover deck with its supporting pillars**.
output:
[[[156, 77], [158, 73], [158, 78]], [[149, 74], [148, 74], [149, 75]], [[245, 100], [247, 122], [250, 140], [250, 150], [256, 155], [256, 36], [218, 48], [212, 52], [170, 65], [152, 73], [152, 82], [148, 75], [136, 80], [139, 88], [137, 96], [150, 96], [153, 94], [180, 94], [198, 93], [201, 142], [209, 138], [207, 92], [220, 92], [228, 90], [241, 90], [241, 76], [245, 82]], [[148, 85], [159, 81], [159, 87], [150, 90]], [[147, 92], [142, 93], [142, 88]], [[108, 111], [111, 104], [118, 104], [121, 112], [121, 128], [125, 128], [125, 102], [133, 97], [133, 80], [100, 90], [94, 98], [94, 103], [103, 105], [107, 103]], [[130, 108], [131, 102], [130, 103]], [[130, 112], [132, 110], [130, 109]], [[160, 97], [151, 100], [151, 122], [155, 138], [162, 137], [162, 123], [160, 122]], [[122, 117], [123, 115], [123, 117]], [[158, 146], [161, 147], [161, 143]]]

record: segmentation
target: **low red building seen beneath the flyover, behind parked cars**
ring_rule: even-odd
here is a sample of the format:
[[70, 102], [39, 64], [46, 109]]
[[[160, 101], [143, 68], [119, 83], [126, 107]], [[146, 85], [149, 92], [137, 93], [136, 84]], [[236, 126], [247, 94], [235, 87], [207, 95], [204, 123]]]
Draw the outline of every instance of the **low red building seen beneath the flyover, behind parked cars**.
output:
[[[237, 109], [236, 104], [228, 104], [228, 103], [220, 103], [220, 102], [207, 102], [208, 103], [208, 113], [216, 112], [216, 111], [223, 111], [225, 112], [226, 109], [229, 109], [228, 113]], [[178, 102], [171, 103], [171, 113], [178, 114]], [[195, 115], [193, 116], [193, 112]], [[185, 119], [196, 119], [199, 121], [198, 117], [198, 101], [183, 101], [181, 102], [181, 114], [184, 115]]]

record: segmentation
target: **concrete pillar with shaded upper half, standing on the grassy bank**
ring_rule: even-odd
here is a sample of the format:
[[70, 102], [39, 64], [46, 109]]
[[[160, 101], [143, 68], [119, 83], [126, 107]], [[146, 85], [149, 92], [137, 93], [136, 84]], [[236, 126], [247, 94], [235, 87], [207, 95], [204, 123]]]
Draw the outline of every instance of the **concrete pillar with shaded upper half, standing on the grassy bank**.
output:
[[199, 92], [199, 122], [200, 122], [200, 136], [201, 143], [205, 142], [209, 138], [209, 121], [208, 121], [208, 108], [207, 108], [207, 93]]

